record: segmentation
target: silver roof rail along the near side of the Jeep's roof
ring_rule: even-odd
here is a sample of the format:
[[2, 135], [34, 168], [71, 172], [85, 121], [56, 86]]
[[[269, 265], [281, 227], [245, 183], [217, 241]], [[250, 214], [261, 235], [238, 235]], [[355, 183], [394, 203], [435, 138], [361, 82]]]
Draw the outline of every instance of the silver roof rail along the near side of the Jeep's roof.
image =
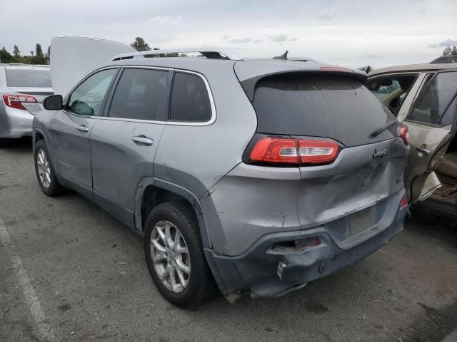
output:
[[239, 57], [233, 51], [227, 48], [217, 48], [206, 46], [203, 48], [171, 48], [166, 50], [151, 50], [151, 51], [139, 51], [139, 52], [130, 52], [130, 53], [121, 53], [120, 55], [114, 56], [111, 58], [112, 61], [121, 61], [121, 59], [130, 59], [130, 58], [148, 58], [148, 57], [161, 57], [161, 55], [168, 53], [191, 53], [197, 52], [201, 53], [206, 58], [212, 59], [229, 59], [231, 61], [241, 61], [243, 58]]

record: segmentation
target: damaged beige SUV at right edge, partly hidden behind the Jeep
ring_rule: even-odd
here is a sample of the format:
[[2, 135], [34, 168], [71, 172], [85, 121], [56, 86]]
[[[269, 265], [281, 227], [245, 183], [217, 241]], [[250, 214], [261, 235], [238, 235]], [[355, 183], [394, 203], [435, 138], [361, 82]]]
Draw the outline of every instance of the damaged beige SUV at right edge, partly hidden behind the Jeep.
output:
[[410, 202], [457, 214], [457, 63], [452, 62], [452, 57], [441, 57], [371, 71], [367, 87], [408, 125], [405, 185]]

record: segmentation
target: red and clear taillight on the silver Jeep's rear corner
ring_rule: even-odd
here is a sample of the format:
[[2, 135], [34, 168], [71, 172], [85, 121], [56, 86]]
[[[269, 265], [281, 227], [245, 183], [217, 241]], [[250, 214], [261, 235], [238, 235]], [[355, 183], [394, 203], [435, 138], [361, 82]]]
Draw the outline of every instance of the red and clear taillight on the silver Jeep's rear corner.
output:
[[333, 140], [265, 137], [253, 146], [250, 159], [274, 164], [327, 164], [335, 160], [339, 148]]

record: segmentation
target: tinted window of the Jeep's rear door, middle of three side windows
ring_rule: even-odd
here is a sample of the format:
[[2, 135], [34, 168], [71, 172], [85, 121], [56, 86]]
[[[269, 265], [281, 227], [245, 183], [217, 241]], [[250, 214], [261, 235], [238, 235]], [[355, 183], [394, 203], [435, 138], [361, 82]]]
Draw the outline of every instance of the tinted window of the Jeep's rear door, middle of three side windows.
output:
[[108, 116], [166, 121], [166, 81], [169, 72], [125, 69], [114, 90]]

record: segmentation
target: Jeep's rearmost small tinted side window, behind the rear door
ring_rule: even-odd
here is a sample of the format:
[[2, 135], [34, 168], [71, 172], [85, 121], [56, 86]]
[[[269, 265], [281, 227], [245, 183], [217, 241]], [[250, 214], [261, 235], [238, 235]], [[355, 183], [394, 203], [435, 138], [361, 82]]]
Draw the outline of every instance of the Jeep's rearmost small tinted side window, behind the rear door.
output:
[[211, 120], [208, 90], [201, 77], [190, 73], [175, 73], [170, 120], [184, 123], [205, 123]]

